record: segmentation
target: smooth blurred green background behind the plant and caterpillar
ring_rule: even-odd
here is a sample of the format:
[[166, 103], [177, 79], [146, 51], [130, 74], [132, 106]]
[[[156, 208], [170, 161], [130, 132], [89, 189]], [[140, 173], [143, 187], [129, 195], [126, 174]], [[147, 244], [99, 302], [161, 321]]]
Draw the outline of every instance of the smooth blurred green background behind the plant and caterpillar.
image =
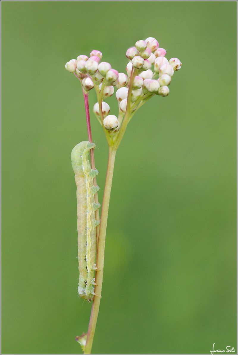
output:
[[[118, 71], [153, 36], [178, 57], [167, 98], [117, 153], [94, 354], [210, 354], [236, 345], [236, 1], [2, 1], [2, 353], [79, 354], [70, 153], [87, 139], [64, 69], [99, 49]], [[98, 184], [107, 144], [92, 113]], [[117, 114], [115, 95], [107, 100]], [[102, 191], [99, 200], [102, 201]]]

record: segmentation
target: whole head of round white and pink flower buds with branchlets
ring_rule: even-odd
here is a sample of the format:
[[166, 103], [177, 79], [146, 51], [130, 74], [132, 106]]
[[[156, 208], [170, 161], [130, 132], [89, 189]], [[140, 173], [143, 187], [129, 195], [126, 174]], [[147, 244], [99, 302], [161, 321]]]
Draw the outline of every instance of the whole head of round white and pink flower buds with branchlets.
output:
[[[113, 69], [109, 62], [101, 61], [102, 53], [99, 50], [92, 50], [89, 57], [81, 54], [77, 59], [71, 59], [65, 64], [65, 69], [80, 79], [85, 92], [95, 87], [100, 99], [95, 103], [93, 112], [111, 137], [115, 137], [126, 110], [132, 113], [154, 94], [168, 96], [171, 78], [175, 71], [181, 69], [182, 63], [178, 58], [168, 60], [165, 55], [166, 50], [159, 47], [158, 41], [148, 37], [138, 40], [134, 47], [126, 51], [129, 59], [127, 75]], [[115, 87], [118, 118], [110, 115], [110, 107], [103, 101], [113, 95]], [[131, 93], [130, 97], [128, 92]]]

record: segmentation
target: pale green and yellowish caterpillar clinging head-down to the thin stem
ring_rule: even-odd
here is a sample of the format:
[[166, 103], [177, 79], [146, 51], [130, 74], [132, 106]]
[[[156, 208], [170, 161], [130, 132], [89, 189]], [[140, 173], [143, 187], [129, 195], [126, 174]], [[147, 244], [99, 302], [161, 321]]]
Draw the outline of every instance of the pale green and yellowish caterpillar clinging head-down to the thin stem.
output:
[[80, 297], [93, 299], [94, 271], [96, 269], [96, 226], [100, 223], [95, 219], [95, 211], [100, 203], [94, 202], [94, 195], [99, 190], [94, 186], [93, 179], [98, 171], [91, 168], [89, 151], [95, 149], [95, 144], [89, 141], [78, 143], [72, 150], [71, 160], [77, 186], [77, 229], [78, 229], [78, 261]]

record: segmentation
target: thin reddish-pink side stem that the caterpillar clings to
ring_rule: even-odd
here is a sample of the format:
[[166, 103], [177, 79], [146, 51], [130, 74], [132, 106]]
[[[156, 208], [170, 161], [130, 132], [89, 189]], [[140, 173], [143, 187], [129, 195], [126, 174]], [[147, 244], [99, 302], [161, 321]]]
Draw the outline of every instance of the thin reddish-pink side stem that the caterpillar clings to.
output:
[[[82, 90], [83, 90], [83, 95], [84, 95], [84, 105], [85, 105], [85, 114], [86, 114], [87, 130], [88, 130], [88, 139], [89, 139], [89, 142], [92, 143], [92, 132], [91, 132], [90, 114], [89, 114], [89, 94], [85, 93], [83, 87], [82, 87]], [[91, 167], [92, 167], [92, 169], [95, 170], [96, 168], [95, 168], [95, 159], [94, 159], [94, 149], [90, 149], [90, 159], [91, 159]], [[94, 186], [97, 186], [96, 176], [93, 179], [93, 184], [94, 184]], [[97, 192], [94, 195], [94, 201], [96, 203], [98, 203]], [[95, 211], [95, 218], [96, 218], [96, 220], [100, 219], [99, 209], [96, 209], [96, 211]], [[99, 238], [99, 229], [100, 229], [100, 225], [97, 225], [96, 226], [97, 243], [98, 243], [98, 238]]]

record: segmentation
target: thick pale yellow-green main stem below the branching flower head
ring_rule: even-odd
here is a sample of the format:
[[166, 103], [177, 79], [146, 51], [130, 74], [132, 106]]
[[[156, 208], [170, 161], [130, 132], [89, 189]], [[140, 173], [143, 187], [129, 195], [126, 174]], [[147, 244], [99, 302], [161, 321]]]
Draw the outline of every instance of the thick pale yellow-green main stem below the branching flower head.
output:
[[94, 339], [94, 333], [97, 323], [97, 316], [99, 312], [101, 293], [102, 293], [102, 277], [104, 268], [104, 249], [105, 249], [105, 239], [106, 239], [106, 228], [107, 228], [107, 216], [109, 210], [109, 202], [112, 187], [112, 176], [116, 157], [116, 149], [109, 146], [109, 158], [107, 163], [107, 174], [106, 182], [104, 188], [104, 195], [102, 201], [102, 211], [101, 211], [101, 224], [99, 231], [99, 239], [97, 244], [97, 270], [95, 275], [95, 296], [92, 304], [91, 316], [89, 321], [87, 341], [85, 345], [84, 354], [91, 354], [92, 342]]

